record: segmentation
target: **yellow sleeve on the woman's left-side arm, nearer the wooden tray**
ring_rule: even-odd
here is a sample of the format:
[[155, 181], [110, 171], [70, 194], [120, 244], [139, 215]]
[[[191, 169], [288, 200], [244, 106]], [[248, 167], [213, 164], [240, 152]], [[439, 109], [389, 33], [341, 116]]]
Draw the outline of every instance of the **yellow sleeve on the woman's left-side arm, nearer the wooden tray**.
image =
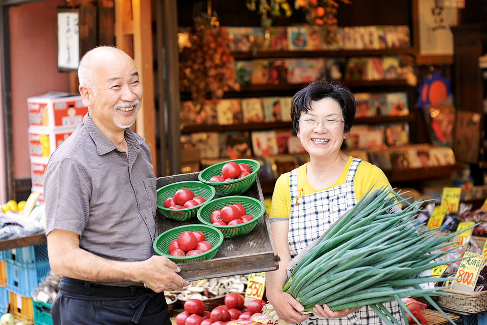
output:
[[284, 173], [275, 181], [270, 203], [269, 221], [289, 220], [291, 215], [290, 201], [289, 173]]

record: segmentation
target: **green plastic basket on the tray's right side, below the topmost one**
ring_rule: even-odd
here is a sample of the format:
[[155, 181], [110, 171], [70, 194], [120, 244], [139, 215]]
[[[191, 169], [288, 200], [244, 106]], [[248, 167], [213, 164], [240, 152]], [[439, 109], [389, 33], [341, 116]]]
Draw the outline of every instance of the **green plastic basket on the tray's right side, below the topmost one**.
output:
[[[246, 210], [247, 214], [254, 217], [252, 220], [235, 225], [218, 225], [210, 222], [210, 216], [215, 210], [221, 210], [224, 206], [240, 203]], [[221, 230], [223, 237], [236, 238], [250, 233], [260, 218], [264, 215], [265, 206], [259, 200], [244, 196], [230, 196], [215, 199], [205, 204], [198, 210], [198, 220], [203, 224], [211, 225]]]

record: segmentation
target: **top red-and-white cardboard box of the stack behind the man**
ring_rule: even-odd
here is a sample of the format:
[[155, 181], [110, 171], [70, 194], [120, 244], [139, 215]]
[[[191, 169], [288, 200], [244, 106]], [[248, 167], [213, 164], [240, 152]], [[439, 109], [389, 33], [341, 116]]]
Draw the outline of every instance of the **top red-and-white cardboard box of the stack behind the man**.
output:
[[49, 92], [27, 98], [29, 126], [76, 127], [83, 122], [88, 107], [83, 106], [80, 95]]

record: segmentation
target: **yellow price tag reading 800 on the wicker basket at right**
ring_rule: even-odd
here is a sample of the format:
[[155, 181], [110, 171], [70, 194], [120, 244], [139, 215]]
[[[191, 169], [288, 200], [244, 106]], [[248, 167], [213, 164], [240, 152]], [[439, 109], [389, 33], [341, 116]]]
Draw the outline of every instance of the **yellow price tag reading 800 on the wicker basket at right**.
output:
[[478, 255], [472, 252], [465, 252], [465, 259], [462, 259], [456, 278], [453, 283], [453, 288], [456, 290], [467, 291], [473, 293], [475, 289], [475, 283], [477, 283], [478, 273], [480, 268], [483, 267], [485, 258], [482, 255]]

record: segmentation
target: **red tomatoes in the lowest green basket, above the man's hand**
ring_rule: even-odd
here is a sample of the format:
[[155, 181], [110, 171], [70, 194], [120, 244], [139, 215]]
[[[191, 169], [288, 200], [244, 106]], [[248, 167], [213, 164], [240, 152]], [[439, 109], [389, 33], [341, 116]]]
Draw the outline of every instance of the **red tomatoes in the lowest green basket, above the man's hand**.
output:
[[210, 242], [205, 241], [204, 234], [199, 230], [194, 232], [184, 231], [178, 238], [169, 243], [169, 255], [192, 256], [212, 249]]

